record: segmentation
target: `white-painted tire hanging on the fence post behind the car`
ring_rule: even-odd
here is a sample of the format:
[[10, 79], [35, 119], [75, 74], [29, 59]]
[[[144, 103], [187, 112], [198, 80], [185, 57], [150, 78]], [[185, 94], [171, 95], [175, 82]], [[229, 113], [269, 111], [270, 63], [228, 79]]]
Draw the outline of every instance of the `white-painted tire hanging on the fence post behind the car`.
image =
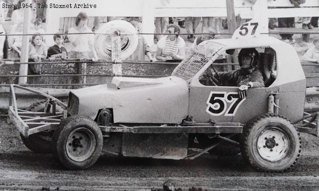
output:
[[[103, 33], [114, 33], [116, 31], [120, 31], [123, 33], [133, 33], [129, 35], [125, 35], [127, 39], [127, 43], [122, 45], [121, 49], [121, 59], [124, 60], [128, 58], [136, 49], [139, 42], [139, 37], [135, 27], [125, 21], [125, 20], [112, 20], [110, 22], [105, 23], [97, 30], [97, 34], [95, 35], [95, 50], [100, 58], [103, 59], [111, 59], [111, 38], [110, 34]], [[102, 33], [102, 34], [101, 34]]]

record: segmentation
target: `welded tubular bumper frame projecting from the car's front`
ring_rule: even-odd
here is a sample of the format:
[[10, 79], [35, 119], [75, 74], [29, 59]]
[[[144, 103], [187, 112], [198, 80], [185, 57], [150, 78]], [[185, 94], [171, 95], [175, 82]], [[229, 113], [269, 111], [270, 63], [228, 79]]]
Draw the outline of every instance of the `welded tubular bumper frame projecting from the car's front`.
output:
[[[47, 104], [50, 105], [52, 111], [47, 109], [45, 112], [32, 112], [26, 111], [17, 108], [16, 104], [16, 95], [14, 88], [19, 88], [25, 91], [29, 91], [35, 93], [37, 95], [44, 96], [48, 99]], [[63, 108], [63, 112], [56, 112], [56, 104]], [[9, 119], [14, 124], [14, 126], [18, 129], [18, 131], [24, 136], [28, 137], [29, 135], [47, 131], [50, 129], [55, 129], [57, 125], [61, 122], [63, 118], [67, 117], [67, 105], [65, 105], [60, 100], [56, 99], [53, 96], [45, 94], [40, 91], [36, 91], [30, 88], [26, 88], [23, 86], [12, 84], [10, 85], [10, 93], [9, 93]]]

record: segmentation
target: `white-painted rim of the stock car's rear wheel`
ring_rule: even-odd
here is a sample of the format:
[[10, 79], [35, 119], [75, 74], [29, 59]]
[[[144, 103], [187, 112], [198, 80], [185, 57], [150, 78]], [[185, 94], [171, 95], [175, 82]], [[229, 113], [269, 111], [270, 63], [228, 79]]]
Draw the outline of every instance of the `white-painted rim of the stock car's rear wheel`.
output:
[[267, 161], [280, 161], [287, 155], [289, 144], [289, 138], [283, 130], [268, 127], [258, 136], [257, 151]]

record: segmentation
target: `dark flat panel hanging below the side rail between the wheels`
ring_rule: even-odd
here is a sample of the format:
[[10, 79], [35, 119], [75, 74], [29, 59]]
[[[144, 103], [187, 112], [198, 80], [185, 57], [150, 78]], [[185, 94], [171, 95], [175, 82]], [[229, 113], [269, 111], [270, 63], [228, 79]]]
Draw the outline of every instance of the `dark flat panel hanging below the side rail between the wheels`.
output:
[[188, 134], [123, 134], [122, 154], [126, 157], [184, 159]]

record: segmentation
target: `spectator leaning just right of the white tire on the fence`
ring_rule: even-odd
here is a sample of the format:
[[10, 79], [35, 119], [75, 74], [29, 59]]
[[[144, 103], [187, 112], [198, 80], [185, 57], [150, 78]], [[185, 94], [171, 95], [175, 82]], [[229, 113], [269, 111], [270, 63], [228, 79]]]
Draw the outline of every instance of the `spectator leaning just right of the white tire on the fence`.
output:
[[[137, 21], [131, 21], [131, 24], [136, 28], [137, 32], [139, 32], [139, 22]], [[145, 55], [151, 60], [155, 61], [155, 59], [152, 58], [151, 54], [151, 48], [147, 44], [144, 36], [139, 35], [139, 43], [136, 47], [133, 54], [127, 58], [127, 60], [145, 60]]]

